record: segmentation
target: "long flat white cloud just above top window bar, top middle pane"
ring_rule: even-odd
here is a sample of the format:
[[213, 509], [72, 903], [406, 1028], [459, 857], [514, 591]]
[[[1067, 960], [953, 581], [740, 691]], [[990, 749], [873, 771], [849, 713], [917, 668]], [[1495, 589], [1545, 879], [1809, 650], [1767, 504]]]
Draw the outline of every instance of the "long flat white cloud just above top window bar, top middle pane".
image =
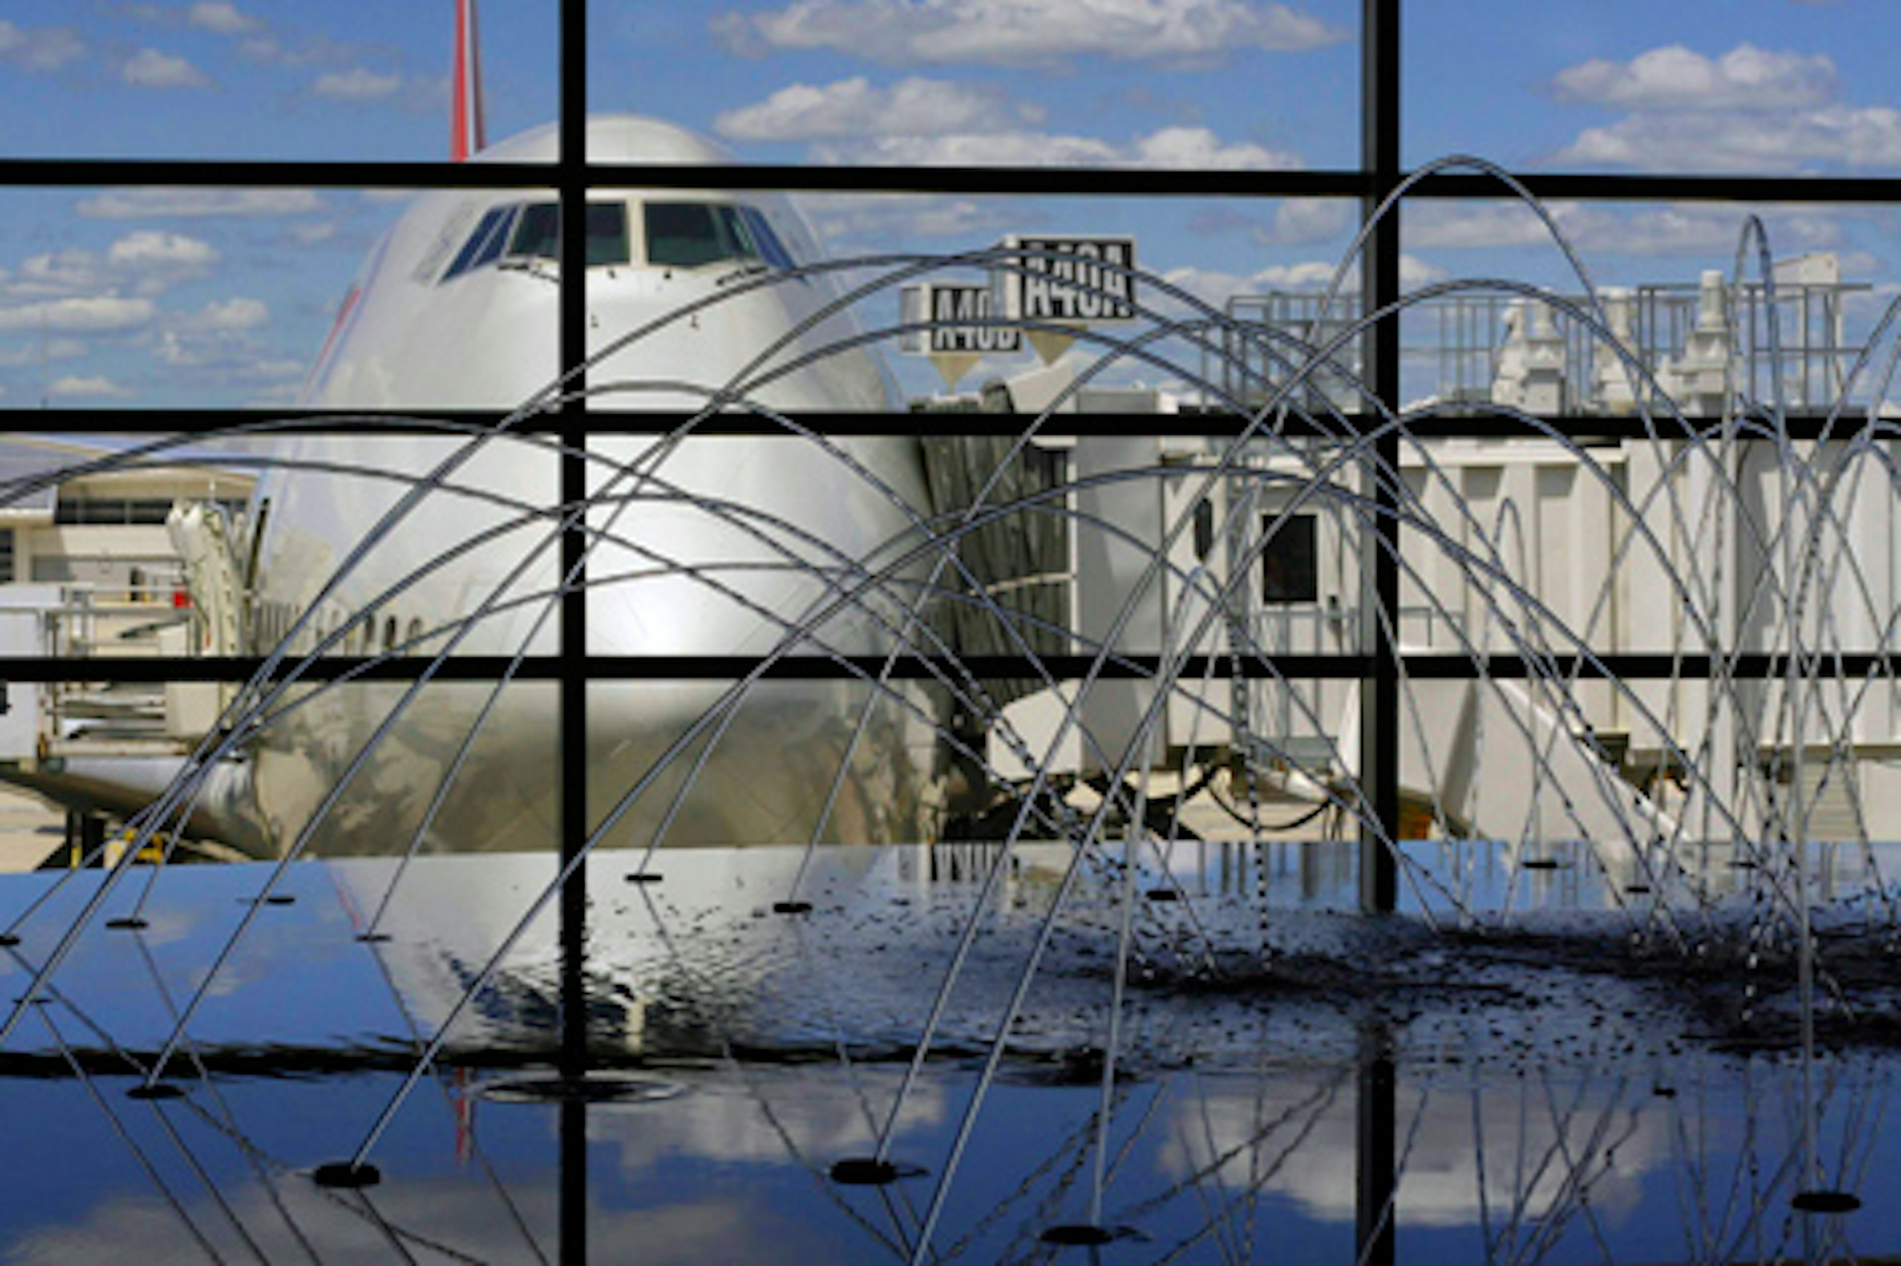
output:
[[1042, 131], [958, 133], [943, 137], [869, 137], [823, 143], [812, 156], [827, 163], [890, 163], [897, 167], [1213, 167], [1222, 171], [1289, 171], [1300, 167], [1285, 154], [1241, 141], [1224, 144], [1205, 127], [1163, 127], [1129, 144], [1097, 137]]

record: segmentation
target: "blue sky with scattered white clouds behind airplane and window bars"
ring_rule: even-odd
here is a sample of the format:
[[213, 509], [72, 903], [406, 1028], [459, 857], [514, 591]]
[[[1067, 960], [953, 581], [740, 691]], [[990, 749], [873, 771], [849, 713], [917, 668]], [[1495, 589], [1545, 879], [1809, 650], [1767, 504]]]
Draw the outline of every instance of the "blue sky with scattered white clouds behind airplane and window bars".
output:
[[[553, 116], [549, 0], [483, 0], [490, 135]], [[451, 2], [11, 0], [13, 154], [435, 158]], [[660, 114], [762, 162], [1333, 167], [1357, 146], [1352, 0], [595, 0], [599, 110]], [[1407, 162], [1901, 173], [1884, 0], [1409, 10]], [[0, 403], [289, 403], [388, 196], [0, 192]], [[1312, 285], [1338, 203], [848, 198], [835, 251], [968, 249], [1011, 230], [1133, 232], [1222, 298]], [[1897, 217], [1762, 209], [1777, 249], [1834, 251], [1893, 293]], [[1738, 207], [1559, 207], [1603, 281], [1726, 268]], [[1504, 205], [1420, 207], [1407, 270], [1559, 283]], [[1872, 298], [1869, 302], [1874, 302]], [[888, 314], [882, 314], [888, 316]]]

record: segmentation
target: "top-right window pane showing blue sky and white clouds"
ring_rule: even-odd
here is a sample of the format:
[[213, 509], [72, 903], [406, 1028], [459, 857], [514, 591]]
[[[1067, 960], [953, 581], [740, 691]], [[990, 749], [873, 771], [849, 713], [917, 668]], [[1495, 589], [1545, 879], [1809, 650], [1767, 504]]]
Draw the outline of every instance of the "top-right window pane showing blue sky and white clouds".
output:
[[1895, 175], [1890, 29], [1880, 6], [1787, 0], [1412, 6], [1405, 162]]

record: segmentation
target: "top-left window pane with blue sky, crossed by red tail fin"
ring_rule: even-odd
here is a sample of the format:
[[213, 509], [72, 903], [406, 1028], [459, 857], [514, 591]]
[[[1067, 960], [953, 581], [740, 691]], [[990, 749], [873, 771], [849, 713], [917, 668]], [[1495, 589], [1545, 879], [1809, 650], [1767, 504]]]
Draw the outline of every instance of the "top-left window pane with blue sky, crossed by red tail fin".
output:
[[[447, 160], [451, 4], [6, 6], [8, 154]], [[555, 118], [546, 4], [481, 4], [490, 141]]]

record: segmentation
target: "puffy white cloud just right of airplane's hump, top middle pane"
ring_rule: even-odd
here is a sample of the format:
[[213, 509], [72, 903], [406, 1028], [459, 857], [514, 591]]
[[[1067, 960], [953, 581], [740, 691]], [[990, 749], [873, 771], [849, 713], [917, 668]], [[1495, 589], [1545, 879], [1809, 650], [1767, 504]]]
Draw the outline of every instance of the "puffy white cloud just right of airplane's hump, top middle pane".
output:
[[758, 105], [726, 110], [713, 120], [713, 129], [730, 141], [812, 141], [1006, 131], [1038, 122], [1042, 110], [968, 84], [907, 78], [873, 87], [865, 78], [852, 78], [781, 87]]

